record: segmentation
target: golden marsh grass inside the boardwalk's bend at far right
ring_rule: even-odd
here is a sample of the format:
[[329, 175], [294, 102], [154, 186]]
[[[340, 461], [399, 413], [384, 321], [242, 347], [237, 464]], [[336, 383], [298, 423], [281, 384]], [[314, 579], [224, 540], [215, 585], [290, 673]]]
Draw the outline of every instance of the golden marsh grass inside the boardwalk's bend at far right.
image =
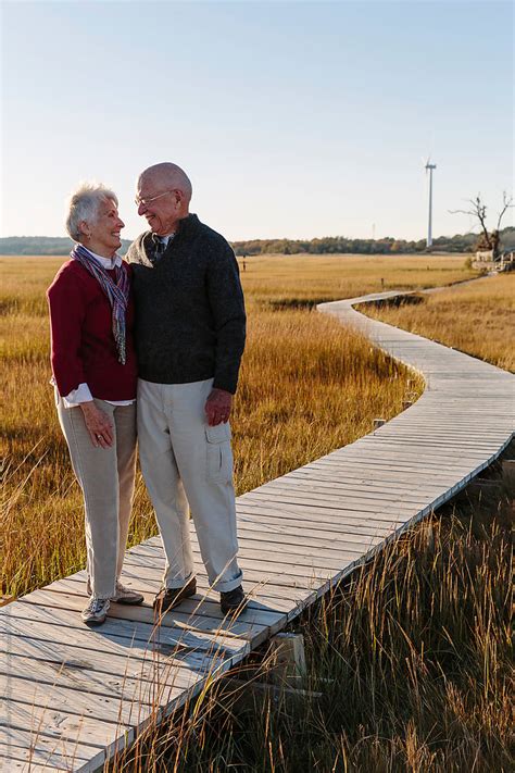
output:
[[416, 306], [367, 306], [363, 311], [515, 372], [515, 273], [419, 298]]

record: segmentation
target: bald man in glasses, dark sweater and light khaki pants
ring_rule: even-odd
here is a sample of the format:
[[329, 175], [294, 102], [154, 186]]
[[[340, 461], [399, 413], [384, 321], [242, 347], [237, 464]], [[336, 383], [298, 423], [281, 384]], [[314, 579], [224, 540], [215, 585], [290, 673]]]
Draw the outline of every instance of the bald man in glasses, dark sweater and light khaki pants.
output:
[[172, 163], [138, 179], [150, 230], [130, 246], [136, 299], [138, 439], [166, 554], [158, 613], [197, 590], [188, 502], [224, 614], [246, 598], [237, 563], [228, 424], [244, 347], [238, 264], [227, 241], [189, 213], [191, 183]]

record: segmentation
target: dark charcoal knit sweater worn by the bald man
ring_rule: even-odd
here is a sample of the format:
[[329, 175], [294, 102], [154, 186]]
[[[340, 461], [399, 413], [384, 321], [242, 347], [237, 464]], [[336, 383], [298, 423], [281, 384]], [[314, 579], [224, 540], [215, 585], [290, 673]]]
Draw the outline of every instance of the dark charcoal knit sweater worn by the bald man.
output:
[[152, 234], [129, 247], [139, 376], [156, 384], [213, 378], [235, 392], [246, 338], [238, 263], [223, 236], [190, 214], [152, 263]]

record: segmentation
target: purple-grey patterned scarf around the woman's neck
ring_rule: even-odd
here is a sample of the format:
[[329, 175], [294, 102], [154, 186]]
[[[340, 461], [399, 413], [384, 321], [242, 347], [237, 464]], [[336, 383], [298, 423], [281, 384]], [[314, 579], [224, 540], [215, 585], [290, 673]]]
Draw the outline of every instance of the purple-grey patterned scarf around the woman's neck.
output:
[[129, 297], [128, 274], [122, 266], [114, 266], [115, 282], [103, 265], [83, 245], [75, 245], [70, 253], [72, 260], [77, 260], [100, 283], [112, 308], [113, 336], [118, 352], [118, 361], [125, 365], [125, 312]]

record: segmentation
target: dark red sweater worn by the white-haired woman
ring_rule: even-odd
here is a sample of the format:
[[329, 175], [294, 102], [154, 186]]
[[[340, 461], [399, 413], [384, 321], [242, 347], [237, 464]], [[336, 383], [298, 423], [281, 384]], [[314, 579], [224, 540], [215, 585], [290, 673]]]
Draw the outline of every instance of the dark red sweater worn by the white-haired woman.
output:
[[[123, 263], [130, 274], [130, 266]], [[114, 278], [114, 271], [110, 272]], [[126, 314], [126, 362], [118, 362], [111, 303], [99, 282], [78, 261], [60, 269], [47, 290], [52, 334], [52, 372], [61, 397], [86, 383], [101, 400], [136, 397], [134, 298]]]

